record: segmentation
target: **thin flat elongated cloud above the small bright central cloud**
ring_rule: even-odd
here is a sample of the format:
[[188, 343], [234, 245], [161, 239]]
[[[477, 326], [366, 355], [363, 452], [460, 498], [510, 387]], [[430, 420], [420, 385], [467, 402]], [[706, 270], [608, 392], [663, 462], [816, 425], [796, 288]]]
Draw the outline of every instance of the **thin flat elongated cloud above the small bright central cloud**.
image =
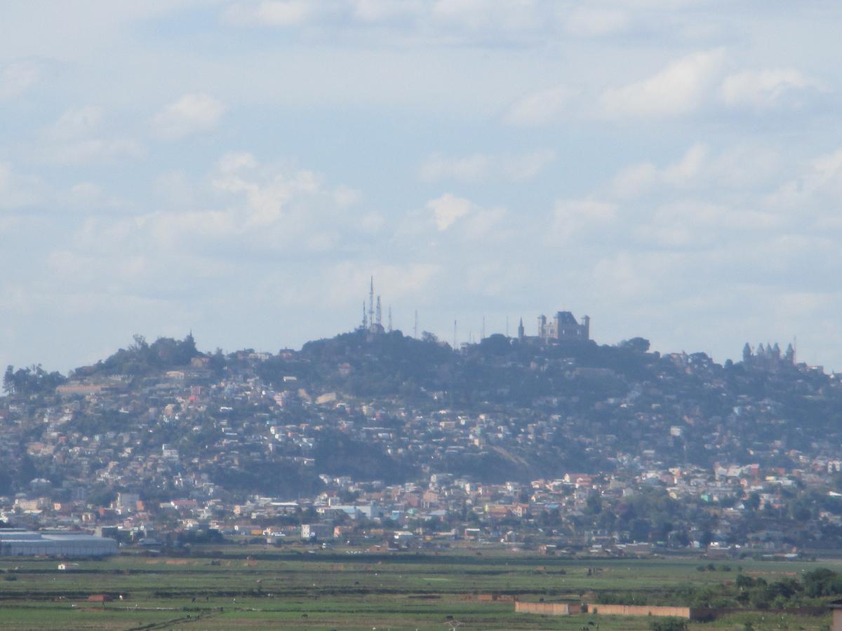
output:
[[517, 182], [536, 177], [555, 158], [555, 151], [549, 150], [532, 151], [519, 156], [475, 153], [472, 156], [452, 157], [437, 153], [421, 164], [418, 177], [426, 182], [450, 179], [470, 183], [488, 178]]

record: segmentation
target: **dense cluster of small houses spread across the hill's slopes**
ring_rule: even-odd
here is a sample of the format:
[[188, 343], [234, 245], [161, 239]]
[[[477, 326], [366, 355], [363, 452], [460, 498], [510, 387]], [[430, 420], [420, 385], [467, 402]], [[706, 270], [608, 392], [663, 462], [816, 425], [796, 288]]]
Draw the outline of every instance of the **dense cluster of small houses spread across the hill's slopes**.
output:
[[[568, 393], [536, 397], [528, 407], [476, 409], [456, 408], [434, 391], [420, 403], [311, 392], [296, 374], [271, 385], [259, 370], [271, 357], [238, 353], [222, 372], [197, 357], [143, 379], [89, 376], [54, 393], [0, 399], [0, 458], [33, 473], [6, 485], [0, 518], [27, 528], [99, 529], [149, 545], [213, 532], [275, 544], [470, 540], [605, 554], [657, 545], [791, 552], [842, 528], [833, 507], [842, 460], [830, 442], [787, 442], [787, 432], [768, 440], [786, 422], [781, 402], [733, 395], [722, 367], [703, 353], [665, 356], [656, 379], [626, 379], [619, 395], [584, 401]], [[522, 368], [553, 362], [571, 379], [618, 379], [570, 359]], [[836, 375], [792, 370], [800, 372], [787, 379], [802, 395], [839, 396]], [[706, 413], [705, 397], [729, 396], [727, 414]], [[746, 436], [749, 425], [756, 438]], [[402, 480], [325, 474], [316, 447], [328, 430], [415, 473]], [[602, 467], [530, 480], [535, 459], [554, 453]], [[699, 453], [708, 461], [700, 463]], [[284, 480], [276, 493], [272, 480], [258, 493], [237, 486], [239, 474], [279, 463], [316, 480], [316, 490], [308, 495]], [[504, 481], [500, 463], [514, 481]], [[670, 528], [660, 532], [650, 520], [641, 530], [617, 518], [631, 498], [652, 491], [679, 506]], [[829, 498], [828, 506], [797, 519], [788, 509], [807, 491]]]

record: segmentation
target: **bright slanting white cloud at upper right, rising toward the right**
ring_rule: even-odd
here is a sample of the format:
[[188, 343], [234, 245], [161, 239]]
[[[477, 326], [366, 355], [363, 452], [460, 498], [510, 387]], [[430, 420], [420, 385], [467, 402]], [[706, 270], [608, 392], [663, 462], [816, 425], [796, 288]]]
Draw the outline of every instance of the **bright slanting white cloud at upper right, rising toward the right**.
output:
[[722, 49], [682, 57], [652, 77], [606, 89], [601, 109], [617, 119], [691, 114], [710, 99], [724, 61]]

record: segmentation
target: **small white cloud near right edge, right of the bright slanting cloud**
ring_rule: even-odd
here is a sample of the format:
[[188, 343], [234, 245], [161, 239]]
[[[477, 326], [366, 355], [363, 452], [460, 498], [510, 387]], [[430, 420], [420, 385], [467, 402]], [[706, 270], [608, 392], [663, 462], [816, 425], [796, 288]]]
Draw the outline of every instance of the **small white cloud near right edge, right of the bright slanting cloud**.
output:
[[745, 71], [722, 81], [722, 100], [730, 107], [756, 109], [780, 105], [805, 88], [822, 89], [819, 82], [791, 69]]

